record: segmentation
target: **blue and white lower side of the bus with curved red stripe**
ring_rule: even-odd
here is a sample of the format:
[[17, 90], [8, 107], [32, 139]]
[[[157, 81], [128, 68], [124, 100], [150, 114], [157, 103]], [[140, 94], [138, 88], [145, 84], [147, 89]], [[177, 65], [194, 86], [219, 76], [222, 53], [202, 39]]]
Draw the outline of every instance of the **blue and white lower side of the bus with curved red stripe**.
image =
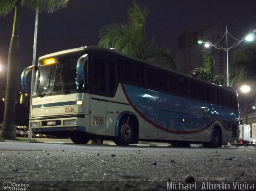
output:
[[[235, 111], [231, 108], [221, 110], [223, 107], [204, 101], [152, 90], [144, 94], [144, 89], [130, 85], [123, 85], [123, 91], [137, 115], [146, 122], [146, 128], [140, 126], [140, 131], [145, 132], [143, 135], [148, 139], [209, 142], [212, 128], [220, 126], [223, 137], [228, 140], [232, 126], [236, 125]], [[228, 114], [222, 115], [222, 112]]]

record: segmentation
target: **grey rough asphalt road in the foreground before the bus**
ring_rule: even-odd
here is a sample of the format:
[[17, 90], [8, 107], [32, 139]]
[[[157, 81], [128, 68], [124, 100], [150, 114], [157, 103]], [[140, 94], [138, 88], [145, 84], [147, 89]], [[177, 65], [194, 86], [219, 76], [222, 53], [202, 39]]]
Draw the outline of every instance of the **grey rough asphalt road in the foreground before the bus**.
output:
[[0, 169], [2, 190], [208, 190], [213, 181], [255, 190], [256, 148], [0, 142]]

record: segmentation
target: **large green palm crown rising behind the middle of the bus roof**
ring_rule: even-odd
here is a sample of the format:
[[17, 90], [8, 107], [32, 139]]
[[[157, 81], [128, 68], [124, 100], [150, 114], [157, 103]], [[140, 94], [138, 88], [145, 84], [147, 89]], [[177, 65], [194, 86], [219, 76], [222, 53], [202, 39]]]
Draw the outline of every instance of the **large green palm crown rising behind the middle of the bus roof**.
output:
[[146, 18], [149, 14], [147, 7], [142, 8], [134, 2], [128, 8], [128, 22], [110, 24], [100, 30], [100, 47], [116, 48], [122, 53], [146, 61], [158, 63], [164, 67], [177, 70], [178, 64], [171, 55], [171, 50], [164, 47], [154, 47], [154, 39], [147, 41], [145, 36]]

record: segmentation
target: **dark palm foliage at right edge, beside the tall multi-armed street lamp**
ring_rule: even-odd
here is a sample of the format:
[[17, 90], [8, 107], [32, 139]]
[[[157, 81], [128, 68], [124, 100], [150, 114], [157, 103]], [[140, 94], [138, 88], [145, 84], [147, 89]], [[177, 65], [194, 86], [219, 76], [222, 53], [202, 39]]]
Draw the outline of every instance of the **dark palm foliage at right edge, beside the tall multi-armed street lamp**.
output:
[[256, 46], [248, 45], [234, 53], [234, 61], [230, 64], [230, 85], [256, 82]]

